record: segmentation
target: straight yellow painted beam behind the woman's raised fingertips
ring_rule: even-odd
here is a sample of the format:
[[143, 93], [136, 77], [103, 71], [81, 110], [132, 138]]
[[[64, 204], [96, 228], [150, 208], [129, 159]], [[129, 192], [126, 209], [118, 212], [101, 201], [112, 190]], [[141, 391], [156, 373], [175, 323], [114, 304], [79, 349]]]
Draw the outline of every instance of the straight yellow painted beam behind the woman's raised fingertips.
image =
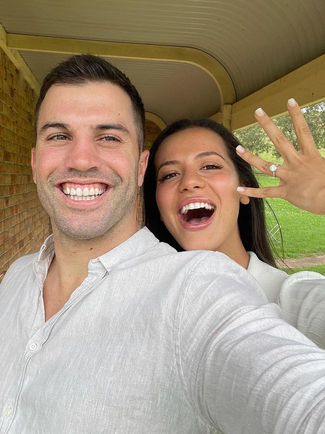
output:
[[294, 98], [301, 107], [325, 100], [325, 55], [314, 59], [232, 105], [231, 130], [255, 124], [258, 107], [271, 117], [286, 112]]

